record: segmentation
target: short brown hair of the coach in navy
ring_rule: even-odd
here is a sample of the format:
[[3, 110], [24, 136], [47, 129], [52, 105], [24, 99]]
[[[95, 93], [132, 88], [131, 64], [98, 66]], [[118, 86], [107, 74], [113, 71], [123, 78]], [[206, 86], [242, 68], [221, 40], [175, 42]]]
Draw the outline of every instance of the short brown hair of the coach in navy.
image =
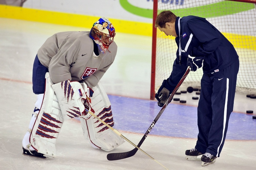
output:
[[177, 16], [171, 11], [162, 11], [156, 16], [155, 27], [165, 28], [165, 23], [174, 23]]

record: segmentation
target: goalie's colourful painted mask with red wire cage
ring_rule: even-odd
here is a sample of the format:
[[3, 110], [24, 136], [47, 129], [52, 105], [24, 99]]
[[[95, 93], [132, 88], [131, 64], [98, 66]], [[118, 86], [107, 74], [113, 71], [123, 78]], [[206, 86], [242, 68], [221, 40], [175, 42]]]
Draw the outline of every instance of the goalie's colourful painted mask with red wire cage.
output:
[[[108, 18], [100, 18], [93, 24], [90, 31], [90, 38], [96, 42], [101, 51], [108, 50], [109, 45], [113, 42], [115, 28]], [[109, 50], [108, 50], [109, 51]]]

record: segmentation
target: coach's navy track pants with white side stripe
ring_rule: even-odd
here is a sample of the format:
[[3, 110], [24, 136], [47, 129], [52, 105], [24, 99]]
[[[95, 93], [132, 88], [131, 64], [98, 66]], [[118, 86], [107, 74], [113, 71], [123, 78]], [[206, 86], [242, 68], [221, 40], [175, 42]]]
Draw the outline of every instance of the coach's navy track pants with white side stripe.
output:
[[201, 153], [219, 157], [228, 121], [234, 107], [239, 60], [213, 74], [203, 74], [197, 107], [199, 129], [195, 148]]

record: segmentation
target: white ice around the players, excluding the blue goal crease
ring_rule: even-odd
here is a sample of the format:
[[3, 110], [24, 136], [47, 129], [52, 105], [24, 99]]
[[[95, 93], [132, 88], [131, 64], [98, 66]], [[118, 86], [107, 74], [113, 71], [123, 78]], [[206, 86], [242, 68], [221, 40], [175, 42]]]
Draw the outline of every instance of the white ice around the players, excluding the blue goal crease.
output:
[[[34, 57], [49, 36], [68, 30], [84, 28], [0, 18], [0, 169], [164, 169], [140, 151], [127, 159], [108, 161], [106, 156], [110, 152], [90, 147], [84, 140], [77, 119], [67, 120], [63, 124], [56, 144], [56, 158], [38, 159], [22, 155], [22, 138], [36, 100], [31, 80]], [[118, 44], [116, 60], [102, 79], [107, 93], [149, 99], [151, 38], [117, 33], [115, 41]], [[236, 94], [234, 111], [256, 112], [255, 100], [246, 98], [244, 94]], [[187, 101], [187, 105], [197, 105], [197, 101]], [[129, 117], [127, 121], [132, 122], [133, 119], [137, 118]], [[142, 119], [142, 123], [150, 126], [152, 122], [143, 122]], [[255, 127], [256, 121], [252, 128]], [[184, 128], [189, 128], [189, 125]], [[135, 144], [143, 137], [143, 134], [131, 131], [120, 132]], [[168, 169], [256, 169], [256, 140], [226, 140], [221, 156], [206, 167], [202, 167], [200, 161], [185, 160], [185, 150], [194, 148], [195, 143], [195, 138], [149, 135], [141, 149]], [[111, 153], [127, 152], [133, 148], [125, 142]]]

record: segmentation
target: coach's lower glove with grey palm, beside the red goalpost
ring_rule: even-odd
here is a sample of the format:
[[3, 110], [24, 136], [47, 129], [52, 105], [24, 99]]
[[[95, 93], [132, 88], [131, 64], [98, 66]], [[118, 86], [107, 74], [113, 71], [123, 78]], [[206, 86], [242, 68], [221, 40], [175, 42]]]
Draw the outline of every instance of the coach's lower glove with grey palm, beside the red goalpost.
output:
[[174, 88], [168, 86], [168, 80], [164, 80], [162, 85], [160, 86], [158, 92], [155, 95], [155, 98], [158, 101], [158, 106], [163, 107], [166, 103], [167, 99], [169, 98], [170, 94], [172, 94], [172, 91]]

